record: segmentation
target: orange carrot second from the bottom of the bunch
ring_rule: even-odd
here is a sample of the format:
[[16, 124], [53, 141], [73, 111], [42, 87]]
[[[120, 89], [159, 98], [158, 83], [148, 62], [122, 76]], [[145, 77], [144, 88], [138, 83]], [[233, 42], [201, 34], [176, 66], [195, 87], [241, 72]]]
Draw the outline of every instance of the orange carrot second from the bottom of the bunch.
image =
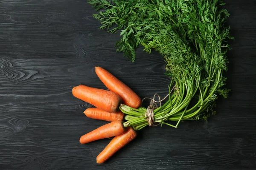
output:
[[103, 125], [83, 136], [81, 136], [79, 142], [81, 144], [93, 142], [99, 139], [110, 138], [113, 136], [121, 135], [125, 132], [122, 120], [116, 120], [114, 122]]

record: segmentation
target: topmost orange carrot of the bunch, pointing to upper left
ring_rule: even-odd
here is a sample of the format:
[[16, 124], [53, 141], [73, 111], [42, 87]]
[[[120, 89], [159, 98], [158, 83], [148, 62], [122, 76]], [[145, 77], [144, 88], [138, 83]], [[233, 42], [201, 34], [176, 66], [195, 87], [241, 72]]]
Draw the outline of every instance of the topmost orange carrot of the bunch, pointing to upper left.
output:
[[110, 91], [115, 92], [122, 98], [123, 104], [132, 108], [138, 108], [141, 105], [140, 97], [110, 72], [101, 67], [95, 67], [95, 72]]

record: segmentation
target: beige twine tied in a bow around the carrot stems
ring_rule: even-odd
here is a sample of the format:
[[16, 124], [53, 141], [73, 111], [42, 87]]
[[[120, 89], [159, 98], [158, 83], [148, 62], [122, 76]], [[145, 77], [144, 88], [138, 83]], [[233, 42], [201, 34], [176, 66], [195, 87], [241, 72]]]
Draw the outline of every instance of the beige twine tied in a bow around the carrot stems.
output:
[[[175, 86], [172, 88], [172, 90], [170, 91], [170, 93], [174, 90]], [[155, 96], [158, 97], [159, 101], [155, 100]], [[154, 121], [154, 110], [156, 108], [158, 108], [157, 103], [159, 103], [160, 107], [161, 107], [161, 102], [163, 102], [163, 100], [166, 99], [166, 97], [168, 97], [169, 94], [167, 94], [162, 100], [160, 99], [160, 96], [158, 94], [154, 94], [153, 99], [150, 97], [145, 97], [144, 99], [150, 99], [150, 105], [147, 108], [147, 111], [145, 113], [145, 117], [146, 117], [146, 121], [148, 122], [149, 126], [158, 126], [160, 125], [160, 123], [158, 123], [157, 125], [155, 125], [155, 121]], [[143, 100], [144, 100], [143, 99]], [[142, 100], [142, 102], [143, 102]]]

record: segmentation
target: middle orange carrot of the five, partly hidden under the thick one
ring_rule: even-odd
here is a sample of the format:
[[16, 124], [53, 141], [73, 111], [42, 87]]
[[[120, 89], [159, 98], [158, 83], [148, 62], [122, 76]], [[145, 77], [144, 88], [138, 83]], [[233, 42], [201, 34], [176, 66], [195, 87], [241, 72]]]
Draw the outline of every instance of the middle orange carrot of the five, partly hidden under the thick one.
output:
[[107, 111], [103, 111], [99, 108], [87, 108], [84, 111], [84, 114], [92, 119], [99, 119], [99, 120], [105, 120], [105, 121], [109, 121], [109, 122], [113, 122], [116, 120], [122, 120], [124, 117], [124, 113], [122, 113], [121, 111], [117, 112], [117, 113], [110, 113]]

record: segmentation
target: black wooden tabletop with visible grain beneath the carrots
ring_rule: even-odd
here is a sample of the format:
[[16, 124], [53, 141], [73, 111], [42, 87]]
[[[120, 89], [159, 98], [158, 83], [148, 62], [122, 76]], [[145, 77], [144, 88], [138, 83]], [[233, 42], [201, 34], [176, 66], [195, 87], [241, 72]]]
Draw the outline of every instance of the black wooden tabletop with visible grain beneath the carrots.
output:
[[0, 0], [0, 170], [256, 169], [256, 1], [225, 0], [236, 38], [228, 52], [228, 99], [209, 122], [146, 127], [105, 164], [96, 156], [111, 139], [79, 143], [104, 125], [72, 96], [80, 83], [103, 88], [106, 68], [141, 98], [165, 96], [170, 79], [158, 53], [116, 52], [118, 34], [99, 30], [86, 0]]

